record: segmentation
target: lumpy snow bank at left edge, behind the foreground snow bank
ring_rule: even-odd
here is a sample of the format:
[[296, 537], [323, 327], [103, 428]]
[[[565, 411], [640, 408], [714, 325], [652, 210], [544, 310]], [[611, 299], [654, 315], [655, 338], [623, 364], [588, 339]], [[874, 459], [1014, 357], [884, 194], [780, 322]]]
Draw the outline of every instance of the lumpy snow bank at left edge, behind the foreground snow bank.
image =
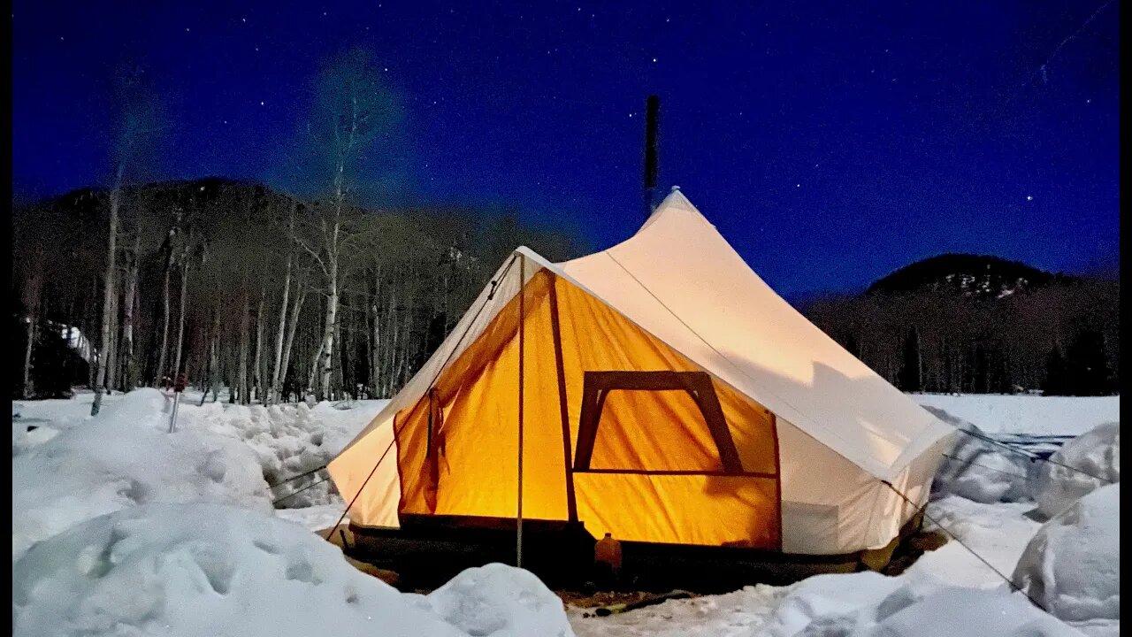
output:
[[130, 392], [12, 458], [12, 560], [40, 540], [137, 504], [223, 502], [272, 510], [251, 450], [208, 432], [168, 433], [166, 401], [154, 389]]

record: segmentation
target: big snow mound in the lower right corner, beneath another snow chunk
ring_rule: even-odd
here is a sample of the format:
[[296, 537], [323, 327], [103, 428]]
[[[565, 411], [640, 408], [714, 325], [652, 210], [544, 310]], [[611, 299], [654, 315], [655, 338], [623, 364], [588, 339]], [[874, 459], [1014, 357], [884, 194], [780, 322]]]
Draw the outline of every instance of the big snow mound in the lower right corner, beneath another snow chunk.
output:
[[1046, 523], [1014, 583], [1090, 635], [1120, 634], [1121, 485], [1103, 486]]

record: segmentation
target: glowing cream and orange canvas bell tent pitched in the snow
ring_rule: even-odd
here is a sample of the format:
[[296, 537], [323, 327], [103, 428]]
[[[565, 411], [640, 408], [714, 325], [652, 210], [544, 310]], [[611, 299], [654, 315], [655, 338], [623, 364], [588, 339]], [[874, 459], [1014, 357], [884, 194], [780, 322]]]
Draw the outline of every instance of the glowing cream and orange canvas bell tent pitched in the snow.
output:
[[610, 249], [516, 249], [329, 472], [360, 527], [565, 520], [832, 555], [890, 545], [953, 432], [674, 189]]

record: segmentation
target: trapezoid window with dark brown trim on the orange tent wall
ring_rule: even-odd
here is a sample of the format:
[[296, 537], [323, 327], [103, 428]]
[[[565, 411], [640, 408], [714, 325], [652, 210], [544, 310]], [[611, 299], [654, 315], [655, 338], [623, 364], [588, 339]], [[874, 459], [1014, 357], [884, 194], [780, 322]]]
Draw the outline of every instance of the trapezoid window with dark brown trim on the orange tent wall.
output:
[[[692, 469], [659, 469], [655, 466], [619, 466], [615, 468], [592, 467], [594, 444], [599, 441], [598, 431], [601, 416], [606, 410], [607, 398], [615, 391], [651, 392], [663, 401], [661, 393], [679, 391], [687, 392], [698, 417], [694, 422], [680, 423], [683, 427], [701, 427], [706, 425], [711, 434], [711, 447], [718, 456], [712, 458], [712, 467], [697, 466]], [[686, 399], [685, 399], [686, 401]], [[671, 398], [668, 399], [671, 404]], [[642, 415], [643, 416], [643, 415]], [[662, 416], [663, 417], [663, 416]], [[608, 418], [607, 418], [608, 419]], [[609, 424], [607, 423], [607, 426]], [[654, 436], [658, 435], [654, 433]], [[616, 436], [614, 440], [618, 440]], [[634, 447], [633, 438], [621, 436], [619, 442], [603, 441], [602, 444], [626, 444]], [[655, 442], [655, 441], [653, 441]], [[675, 441], [672, 441], [675, 443]], [[635, 451], [635, 450], [633, 450]], [[631, 453], [637, 458], [643, 456], [658, 457], [653, 453]], [[633, 465], [635, 462], [626, 462]], [[577, 450], [574, 456], [576, 473], [637, 473], [637, 474], [717, 474], [747, 475], [744, 472], [739, 455], [735, 448], [731, 432], [728, 430], [711, 376], [704, 372], [585, 372], [582, 389], [582, 413], [577, 433]]]

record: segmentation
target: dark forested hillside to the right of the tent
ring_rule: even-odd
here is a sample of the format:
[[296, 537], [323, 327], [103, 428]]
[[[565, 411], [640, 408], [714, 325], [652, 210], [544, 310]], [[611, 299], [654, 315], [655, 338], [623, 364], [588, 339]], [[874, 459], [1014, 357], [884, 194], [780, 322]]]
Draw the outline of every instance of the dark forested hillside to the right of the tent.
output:
[[903, 391], [1116, 393], [1120, 282], [1050, 279], [1003, 296], [947, 286], [871, 290], [803, 309]]

